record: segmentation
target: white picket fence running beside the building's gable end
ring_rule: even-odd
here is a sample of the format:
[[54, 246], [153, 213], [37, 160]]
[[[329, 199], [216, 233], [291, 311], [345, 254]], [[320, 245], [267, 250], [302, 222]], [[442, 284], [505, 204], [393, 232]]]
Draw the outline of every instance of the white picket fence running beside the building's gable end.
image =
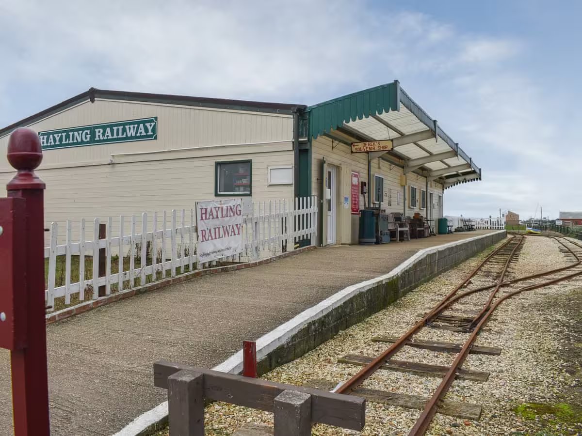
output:
[[[141, 229], [136, 228], [139, 218]], [[125, 234], [128, 220], [130, 231]], [[99, 234], [100, 224], [100, 219], [93, 220], [94, 235]], [[54, 310], [55, 298], [64, 297], [64, 304], [67, 306], [70, 305], [71, 295], [78, 293], [79, 301], [83, 301], [87, 290], [92, 290], [91, 298], [97, 299], [98, 288], [101, 286], [105, 286], [105, 295], [109, 295], [112, 291], [119, 292], [136, 287], [136, 279], [139, 279], [137, 286], [143, 286], [161, 280], [168, 274], [175, 277], [187, 271], [216, 265], [216, 262], [198, 263], [195, 209], [172, 210], [169, 214], [164, 211], [160, 215], [156, 212], [151, 223], [147, 213], [141, 213], [137, 220], [136, 215], [129, 219], [125, 216], [119, 216], [115, 220], [109, 217], [106, 237], [97, 239], [96, 242], [85, 240], [86, 225], [84, 219], [77, 224], [79, 242], [73, 242], [73, 224], [67, 220], [64, 229], [66, 242], [58, 245], [59, 226], [58, 223], [51, 224], [50, 245], [45, 247], [44, 252], [45, 259], [48, 258], [45, 299], [47, 306], [51, 308], [49, 310]], [[112, 234], [114, 228], [118, 233], [115, 236]], [[252, 212], [243, 217], [243, 252], [220, 260], [251, 262], [277, 255], [283, 250], [292, 251], [294, 244], [301, 240], [311, 240], [311, 244], [314, 244], [316, 233], [315, 197], [296, 198], [294, 202], [286, 199], [255, 202]], [[98, 259], [100, 249], [105, 249], [105, 275], [100, 277], [99, 262], [95, 261], [91, 266], [91, 278], [86, 278], [86, 258]], [[120, 272], [112, 273], [112, 259], [115, 254], [118, 255], [115, 262]], [[79, 256], [78, 276], [75, 274], [75, 277], [72, 277], [73, 256]], [[129, 265], [126, 267], [124, 260], [127, 258]], [[145, 265], [142, 264], [142, 259], [145, 259]], [[57, 286], [57, 278], [64, 283]]]

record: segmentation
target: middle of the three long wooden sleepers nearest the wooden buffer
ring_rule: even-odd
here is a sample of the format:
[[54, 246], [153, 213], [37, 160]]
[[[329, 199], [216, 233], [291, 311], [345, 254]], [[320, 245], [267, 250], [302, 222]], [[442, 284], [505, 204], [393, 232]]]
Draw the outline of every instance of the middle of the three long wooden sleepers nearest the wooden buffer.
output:
[[[370, 356], [361, 356], [357, 354], [349, 354], [343, 358], [338, 359], [339, 363], [347, 363], [357, 366], [365, 366], [372, 362], [374, 358]], [[400, 371], [403, 373], [422, 374], [424, 376], [444, 377], [449, 370], [448, 366], [431, 365], [427, 363], [407, 362], [406, 360], [394, 360], [383, 364], [380, 369], [389, 371]], [[473, 371], [466, 369], [459, 369], [457, 371], [457, 380], [471, 380], [471, 381], [487, 381], [489, 373], [485, 371]]]

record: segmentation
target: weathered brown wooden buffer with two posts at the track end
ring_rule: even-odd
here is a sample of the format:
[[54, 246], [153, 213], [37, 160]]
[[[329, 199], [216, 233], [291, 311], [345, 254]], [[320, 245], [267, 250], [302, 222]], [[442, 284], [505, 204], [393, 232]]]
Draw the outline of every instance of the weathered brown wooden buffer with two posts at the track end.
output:
[[223, 401], [274, 413], [275, 436], [306, 436], [314, 423], [361, 430], [365, 399], [236, 376], [161, 360], [154, 385], [168, 389], [171, 436], [204, 435], [204, 401]]

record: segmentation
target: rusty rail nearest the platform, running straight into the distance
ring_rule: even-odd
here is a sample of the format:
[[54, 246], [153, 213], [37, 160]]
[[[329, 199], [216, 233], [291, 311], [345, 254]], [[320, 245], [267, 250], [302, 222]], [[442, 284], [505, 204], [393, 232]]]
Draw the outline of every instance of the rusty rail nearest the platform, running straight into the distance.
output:
[[[477, 267], [475, 267], [475, 269], [473, 271], [471, 271], [469, 276], [467, 276], [461, 284], [457, 285], [457, 287], [455, 287], [454, 290], [452, 290], [447, 296], [445, 296], [445, 298], [442, 299], [442, 301], [439, 303], [437, 308], [431, 310], [430, 313], [427, 313], [427, 315], [425, 315], [423, 317], [423, 319], [418, 321], [416, 324], [414, 324], [413, 327], [411, 327], [406, 333], [404, 333], [404, 335], [402, 335], [398, 339], [398, 341], [394, 342], [391, 346], [389, 346], [384, 352], [382, 352], [381, 355], [379, 355], [377, 358], [372, 360], [372, 362], [368, 363], [367, 366], [364, 366], [363, 369], [358, 371], [358, 373], [356, 373], [349, 380], [347, 380], [346, 383], [342, 384], [338, 389], [336, 389], [335, 392], [338, 392], [338, 394], [349, 394], [350, 392], [353, 391], [353, 389], [356, 389], [360, 384], [364, 383], [364, 381], [368, 377], [370, 377], [372, 374], [374, 374], [375, 371], [377, 371], [379, 369], [379, 367], [381, 367], [384, 364], [384, 362], [386, 362], [386, 360], [388, 360], [393, 355], [395, 355], [400, 350], [400, 348], [402, 348], [406, 344], [406, 342], [408, 342], [409, 339], [414, 334], [416, 334], [418, 332], [418, 330], [420, 330], [427, 323], [429, 323], [434, 318], [435, 313], [436, 314], [440, 313], [440, 312], [438, 312], [438, 310], [443, 305], [443, 303], [445, 303], [449, 298], [451, 298], [453, 295], [455, 295], [460, 290], [460, 288], [462, 288], [464, 285], [469, 283], [469, 280], [471, 280], [471, 278], [473, 278], [482, 269], [482, 267], [487, 262], [489, 262], [489, 260], [491, 260], [491, 258], [493, 258], [493, 256], [497, 255], [510, 242], [512, 242], [514, 240], [514, 238], [515, 237], [504, 242], [502, 245], [500, 245], [494, 251], [489, 253], [487, 258], [485, 258]], [[523, 238], [523, 236], [522, 236], [522, 238]], [[441, 309], [440, 311], [442, 312], [442, 310], [444, 310], [444, 309]]]

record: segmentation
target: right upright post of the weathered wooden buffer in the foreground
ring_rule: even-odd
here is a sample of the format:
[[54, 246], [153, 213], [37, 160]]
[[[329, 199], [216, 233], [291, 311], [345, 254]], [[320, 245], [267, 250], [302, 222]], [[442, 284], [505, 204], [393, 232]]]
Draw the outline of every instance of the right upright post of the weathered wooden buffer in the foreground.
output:
[[275, 397], [274, 436], [309, 436], [311, 434], [311, 395], [283, 391]]

